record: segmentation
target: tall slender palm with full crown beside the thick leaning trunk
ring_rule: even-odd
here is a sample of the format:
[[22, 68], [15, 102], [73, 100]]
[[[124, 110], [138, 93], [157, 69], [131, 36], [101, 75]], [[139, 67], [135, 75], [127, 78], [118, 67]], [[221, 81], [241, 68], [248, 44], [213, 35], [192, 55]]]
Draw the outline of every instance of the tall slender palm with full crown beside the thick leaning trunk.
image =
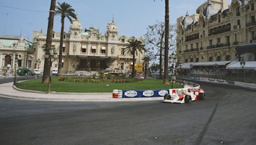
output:
[[58, 3], [56, 6], [56, 14], [61, 15], [61, 34], [60, 34], [60, 54], [59, 54], [59, 63], [58, 63], [58, 74], [57, 76], [61, 76], [62, 70], [62, 52], [63, 52], [63, 38], [64, 38], [64, 23], [65, 17], [72, 22], [72, 18], [77, 18], [76, 14], [74, 13], [75, 10], [70, 6], [68, 3]]

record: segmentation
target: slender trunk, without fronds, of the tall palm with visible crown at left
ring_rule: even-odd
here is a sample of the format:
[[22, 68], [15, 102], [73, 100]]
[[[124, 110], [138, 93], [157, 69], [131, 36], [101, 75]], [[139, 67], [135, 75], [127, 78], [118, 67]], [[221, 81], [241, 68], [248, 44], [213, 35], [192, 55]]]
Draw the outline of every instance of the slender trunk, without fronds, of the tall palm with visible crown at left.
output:
[[61, 33], [60, 33], [60, 52], [59, 52], [59, 63], [58, 63], [58, 74], [57, 76], [62, 76], [62, 52], [63, 52], [63, 39], [64, 39], [64, 21], [65, 16], [61, 16]]

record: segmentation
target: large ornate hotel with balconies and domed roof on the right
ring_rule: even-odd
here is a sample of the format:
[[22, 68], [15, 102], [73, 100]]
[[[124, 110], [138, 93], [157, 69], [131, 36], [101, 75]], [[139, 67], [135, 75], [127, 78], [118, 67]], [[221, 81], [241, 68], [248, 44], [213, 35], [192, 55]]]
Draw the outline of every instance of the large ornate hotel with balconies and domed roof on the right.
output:
[[208, 0], [195, 14], [177, 18], [177, 53], [182, 67], [225, 67], [241, 57], [256, 61], [255, 50], [244, 56], [236, 52], [239, 46], [256, 43], [255, 15], [255, 0], [232, 0], [231, 4], [227, 0]]

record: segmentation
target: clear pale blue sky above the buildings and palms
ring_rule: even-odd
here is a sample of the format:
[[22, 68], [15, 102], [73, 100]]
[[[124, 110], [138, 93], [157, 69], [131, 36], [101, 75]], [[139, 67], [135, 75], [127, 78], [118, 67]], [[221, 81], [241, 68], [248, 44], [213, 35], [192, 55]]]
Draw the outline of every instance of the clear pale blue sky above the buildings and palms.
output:
[[[207, 0], [170, 0], [170, 23], [176, 18], [195, 13]], [[228, 0], [229, 2], [231, 0]], [[57, 0], [62, 3], [63, 0]], [[97, 27], [102, 34], [115, 15], [119, 35], [140, 37], [148, 25], [164, 21], [164, 0], [66, 0], [78, 14], [83, 29]], [[47, 32], [51, 0], [0, 0], [0, 35], [20, 35], [32, 39], [33, 31]], [[12, 7], [12, 8], [10, 8]], [[20, 10], [22, 9], [22, 10]], [[33, 11], [28, 11], [33, 10]], [[70, 22], [65, 20], [65, 31]], [[54, 17], [54, 31], [60, 32], [60, 16]]]

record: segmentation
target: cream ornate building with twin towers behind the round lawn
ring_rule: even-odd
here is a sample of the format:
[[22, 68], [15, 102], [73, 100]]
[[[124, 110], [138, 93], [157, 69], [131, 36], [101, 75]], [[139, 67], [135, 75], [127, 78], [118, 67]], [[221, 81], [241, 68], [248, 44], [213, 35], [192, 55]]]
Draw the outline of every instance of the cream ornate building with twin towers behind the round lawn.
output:
[[[79, 20], [74, 20], [70, 25], [69, 32], [64, 36], [63, 42], [63, 73], [74, 71], [100, 71], [110, 67], [116, 72], [131, 71], [132, 55], [125, 53], [127, 41], [131, 38], [118, 36], [118, 27], [113, 18], [107, 25], [104, 35], [99, 29], [90, 27], [83, 32]], [[143, 41], [142, 38], [140, 38]], [[36, 48], [35, 60], [41, 60], [40, 69], [44, 68], [44, 45], [46, 35], [43, 31], [33, 32], [33, 43]], [[52, 45], [59, 53], [60, 33], [52, 35]], [[143, 64], [144, 53], [138, 52], [136, 64]], [[52, 68], [58, 67], [58, 59], [52, 62]]]

